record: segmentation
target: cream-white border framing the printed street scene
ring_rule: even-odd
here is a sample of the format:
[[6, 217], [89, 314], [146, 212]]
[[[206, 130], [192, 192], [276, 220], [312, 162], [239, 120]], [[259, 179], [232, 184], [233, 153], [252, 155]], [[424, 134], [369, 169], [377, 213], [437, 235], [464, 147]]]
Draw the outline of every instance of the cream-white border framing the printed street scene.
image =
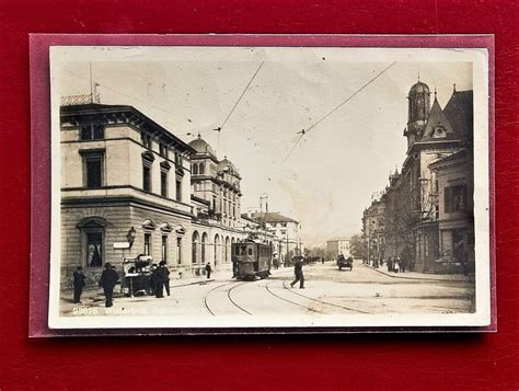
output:
[[[215, 48], [214, 46], [208, 46]], [[261, 46], [254, 46], [261, 48]], [[51, 46], [50, 102], [51, 102], [51, 173], [60, 173], [59, 145], [59, 79], [55, 76], [61, 61], [120, 60], [166, 61], [175, 58], [174, 51], [183, 46]], [[114, 50], [119, 48], [120, 50]], [[196, 46], [204, 50], [204, 46]], [[229, 49], [230, 47], [219, 47]], [[250, 47], [247, 47], [250, 48]], [[323, 47], [307, 47], [319, 50]], [[240, 48], [234, 47], [234, 50]], [[298, 47], [268, 47], [269, 50], [300, 50]], [[327, 47], [327, 49], [330, 49]], [[175, 329], [175, 327], [406, 327], [406, 326], [486, 326], [492, 323], [491, 304], [491, 232], [489, 232], [489, 57], [487, 48], [353, 48], [351, 61], [469, 61], [473, 64], [474, 91], [474, 233], [475, 233], [475, 299], [476, 312], [457, 314], [348, 314], [312, 317], [61, 317], [60, 301], [60, 175], [51, 175], [51, 234], [49, 313], [50, 329]], [[355, 51], [355, 53], [354, 53]], [[145, 56], [143, 56], [145, 55]], [[139, 56], [140, 59], [139, 59]]]

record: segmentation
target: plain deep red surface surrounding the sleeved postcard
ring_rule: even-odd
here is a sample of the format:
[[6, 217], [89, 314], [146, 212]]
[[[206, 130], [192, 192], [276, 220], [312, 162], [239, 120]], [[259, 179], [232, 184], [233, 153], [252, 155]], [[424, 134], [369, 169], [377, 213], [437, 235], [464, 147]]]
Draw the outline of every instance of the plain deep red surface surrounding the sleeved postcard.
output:
[[[0, 388], [518, 389], [518, 5], [1, 0]], [[28, 33], [494, 33], [498, 332], [28, 340]]]

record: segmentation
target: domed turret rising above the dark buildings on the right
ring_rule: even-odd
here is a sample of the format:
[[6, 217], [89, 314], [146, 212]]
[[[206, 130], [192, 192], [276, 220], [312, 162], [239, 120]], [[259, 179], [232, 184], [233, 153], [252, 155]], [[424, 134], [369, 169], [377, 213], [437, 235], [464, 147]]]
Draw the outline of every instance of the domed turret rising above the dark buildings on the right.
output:
[[407, 127], [404, 136], [407, 137], [407, 148], [424, 135], [425, 125], [430, 112], [430, 91], [426, 83], [419, 81], [414, 84], [407, 95], [408, 114]]

